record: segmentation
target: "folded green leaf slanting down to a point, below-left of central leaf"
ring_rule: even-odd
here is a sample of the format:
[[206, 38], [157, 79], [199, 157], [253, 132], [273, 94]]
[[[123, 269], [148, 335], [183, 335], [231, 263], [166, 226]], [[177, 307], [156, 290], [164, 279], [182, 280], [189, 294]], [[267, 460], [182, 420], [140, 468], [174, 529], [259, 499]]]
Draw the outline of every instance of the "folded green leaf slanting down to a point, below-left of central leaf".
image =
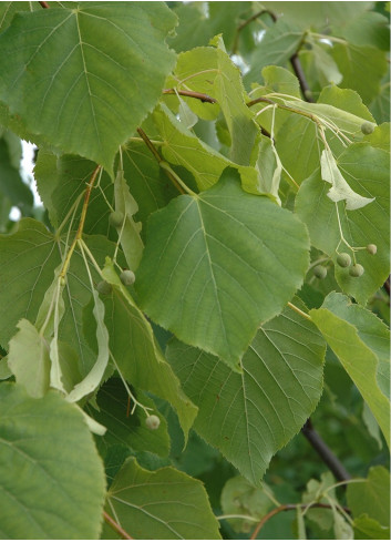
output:
[[182, 391], [179, 380], [156, 342], [151, 324], [121, 283], [110, 260], [103, 276], [114, 288], [114, 305], [106, 310], [106, 326], [110, 330], [110, 350], [119, 369], [136, 389], [151, 391], [174, 407], [186, 440], [197, 413], [196, 407]]

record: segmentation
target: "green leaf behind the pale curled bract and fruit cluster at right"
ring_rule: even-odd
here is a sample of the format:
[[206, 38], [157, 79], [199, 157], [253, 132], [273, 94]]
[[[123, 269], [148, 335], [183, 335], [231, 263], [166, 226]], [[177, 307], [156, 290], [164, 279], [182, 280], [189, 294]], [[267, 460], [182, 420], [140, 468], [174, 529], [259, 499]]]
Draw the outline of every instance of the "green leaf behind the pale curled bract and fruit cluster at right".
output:
[[[348, 212], [338, 204], [343, 236], [354, 247], [375, 243], [378, 253], [367, 250], [356, 253], [364, 274], [357, 278], [349, 275], [349, 268], [336, 266], [338, 284], [359, 303], [366, 304], [369, 296], [382, 286], [389, 274], [389, 154], [368, 143], [350, 145], [338, 158], [338, 167], [351, 188], [374, 202], [357, 211]], [[336, 258], [340, 243], [340, 232], [336, 204], [327, 197], [328, 185], [315, 172], [305, 181], [296, 197], [296, 211], [307, 224], [311, 244]], [[327, 225], [327, 226], [326, 226]], [[342, 245], [340, 246], [341, 250]]]

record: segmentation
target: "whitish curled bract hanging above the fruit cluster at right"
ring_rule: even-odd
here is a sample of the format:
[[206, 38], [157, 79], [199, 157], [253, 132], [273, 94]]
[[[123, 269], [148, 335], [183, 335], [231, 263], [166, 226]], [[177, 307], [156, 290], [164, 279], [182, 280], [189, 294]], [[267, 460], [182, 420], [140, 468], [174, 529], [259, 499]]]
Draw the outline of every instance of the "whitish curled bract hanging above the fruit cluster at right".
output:
[[354, 211], [364, 207], [374, 201], [374, 197], [363, 197], [351, 190], [338, 168], [336, 158], [329, 149], [325, 149], [320, 157], [321, 177], [331, 184], [327, 196], [331, 202], [346, 202], [347, 211]]

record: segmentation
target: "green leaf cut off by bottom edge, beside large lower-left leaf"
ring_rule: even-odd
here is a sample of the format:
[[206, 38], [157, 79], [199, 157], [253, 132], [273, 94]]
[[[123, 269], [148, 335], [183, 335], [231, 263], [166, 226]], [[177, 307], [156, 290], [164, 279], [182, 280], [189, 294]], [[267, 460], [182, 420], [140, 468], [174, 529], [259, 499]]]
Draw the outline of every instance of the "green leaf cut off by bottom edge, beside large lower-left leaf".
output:
[[127, 459], [109, 489], [106, 510], [134, 539], [220, 539], [202, 482], [172, 467], [151, 472]]

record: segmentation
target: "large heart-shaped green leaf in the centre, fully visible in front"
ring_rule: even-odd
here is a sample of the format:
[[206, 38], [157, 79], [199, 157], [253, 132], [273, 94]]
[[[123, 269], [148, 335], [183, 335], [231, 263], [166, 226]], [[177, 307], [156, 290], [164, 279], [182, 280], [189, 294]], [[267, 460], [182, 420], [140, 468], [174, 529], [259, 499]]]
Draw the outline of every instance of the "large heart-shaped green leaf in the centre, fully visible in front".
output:
[[208, 191], [151, 217], [135, 287], [154, 321], [238, 369], [260, 321], [291, 299], [307, 266], [301, 223], [243, 192], [228, 168]]

